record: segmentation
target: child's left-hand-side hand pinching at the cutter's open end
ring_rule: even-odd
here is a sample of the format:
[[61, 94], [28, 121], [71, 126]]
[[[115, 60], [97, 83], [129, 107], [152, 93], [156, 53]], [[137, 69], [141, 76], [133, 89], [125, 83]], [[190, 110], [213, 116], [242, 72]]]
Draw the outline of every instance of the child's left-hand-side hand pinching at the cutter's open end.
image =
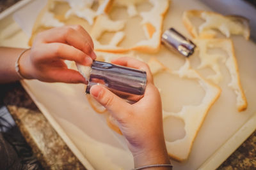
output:
[[20, 74], [26, 79], [47, 82], [86, 83], [83, 76], [68, 69], [64, 60], [90, 66], [96, 58], [90, 35], [79, 25], [40, 32], [20, 58]]

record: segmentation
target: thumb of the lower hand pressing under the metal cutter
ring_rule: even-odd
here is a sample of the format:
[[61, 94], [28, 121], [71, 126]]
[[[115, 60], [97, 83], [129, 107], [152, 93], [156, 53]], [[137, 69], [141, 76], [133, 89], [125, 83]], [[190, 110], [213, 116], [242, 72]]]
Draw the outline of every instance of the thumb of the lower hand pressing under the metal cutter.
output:
[[129, 112], [129, 103], [125, 102], [120, 97], [113, 94], [113, 92], [109, 91], [102, 85], [93, 85], [90, 89], [90, 94], [104, 106], [108, 111], [113, 114], [117, 120], [122, 119], [124, 113], [128, 110]]

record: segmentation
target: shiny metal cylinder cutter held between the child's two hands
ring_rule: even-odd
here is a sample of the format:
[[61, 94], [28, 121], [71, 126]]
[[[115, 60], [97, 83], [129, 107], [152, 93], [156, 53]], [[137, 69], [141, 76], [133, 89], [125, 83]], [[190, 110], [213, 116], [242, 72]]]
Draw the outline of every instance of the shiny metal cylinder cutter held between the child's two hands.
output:
[[86, 93], [90, 94], [91, 87], [98, 83], [129, 103], [133, 103], [143, 97], [147, 84], [147, 73], [131, 67], [93, 61]]

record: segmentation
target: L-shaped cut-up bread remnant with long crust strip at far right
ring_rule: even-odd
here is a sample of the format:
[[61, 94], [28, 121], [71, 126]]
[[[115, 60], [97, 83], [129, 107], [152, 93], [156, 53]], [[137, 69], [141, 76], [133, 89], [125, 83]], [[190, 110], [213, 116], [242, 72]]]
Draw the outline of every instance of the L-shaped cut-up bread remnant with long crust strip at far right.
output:
[[[231, 81], [228, 84], [236, 94], [236, 105], [238, 111], [244, 111], [247, 108], [247, 101], [244, 95], [241, 81], [239, 78], [239, 70], [234, 52], [234, 45], [231, 39], [194, 39], [196, 46], [199, 50], [200, 65], [199, 69], [210, 67], [216, 74], [210, 75], [207, 78], [212, 80], [214, 83], [221, 81], [222, 75], [220, 71], [220, 61], [225, 62]], [[220, 48], [227, 53], [226, 56], [220, 53], [208, 53], [209, 48]]]

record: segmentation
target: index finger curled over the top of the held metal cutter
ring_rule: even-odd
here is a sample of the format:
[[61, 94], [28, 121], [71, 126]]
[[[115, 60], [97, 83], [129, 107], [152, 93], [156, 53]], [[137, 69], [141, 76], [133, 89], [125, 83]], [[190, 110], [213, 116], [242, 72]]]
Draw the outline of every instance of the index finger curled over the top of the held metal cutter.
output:
[[152, 73], [148, 67], [148, 64], [140, 60], [131, 57], [120, 57], [118, 59], [111, 60], [113, 64], [117, 64], [125, 67], [132, 67], [134, 69], [140, 69], [147, 72], [147, 81], [153, 83]]

